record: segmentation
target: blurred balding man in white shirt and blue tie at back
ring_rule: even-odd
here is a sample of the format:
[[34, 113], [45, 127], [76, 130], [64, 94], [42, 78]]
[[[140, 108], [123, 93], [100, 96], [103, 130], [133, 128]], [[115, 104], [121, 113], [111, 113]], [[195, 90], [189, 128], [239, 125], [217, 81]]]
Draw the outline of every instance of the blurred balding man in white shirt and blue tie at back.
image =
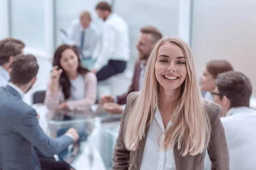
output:
[[82, 11], [79, 20], [74, 20], [71, 23], [66, 42], [69, 45], [75, 45], [79, 49], [81, 63], [89, 70], [95, 63], [92, 55], [99, 40], [97, 28], [90, 23], [90, 13]]

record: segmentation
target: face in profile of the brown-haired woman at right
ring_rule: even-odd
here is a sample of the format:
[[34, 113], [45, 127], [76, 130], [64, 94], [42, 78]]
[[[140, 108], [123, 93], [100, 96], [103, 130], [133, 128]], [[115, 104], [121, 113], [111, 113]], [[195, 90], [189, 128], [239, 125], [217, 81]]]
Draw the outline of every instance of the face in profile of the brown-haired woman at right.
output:
[[200, 77], [201, 84], [200, 88], [202, 91], [213, 91], [215, 89], [215, 78], [213, 78], [212, 74], [209, 73], [207, 68], [204, 68], [204, 72]]

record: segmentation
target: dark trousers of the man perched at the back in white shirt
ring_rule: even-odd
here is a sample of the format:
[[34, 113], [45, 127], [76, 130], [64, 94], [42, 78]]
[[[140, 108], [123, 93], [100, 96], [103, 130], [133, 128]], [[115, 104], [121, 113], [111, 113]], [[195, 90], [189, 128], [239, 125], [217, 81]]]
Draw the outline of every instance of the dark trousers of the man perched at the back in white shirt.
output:
[[108, 79], [109, 77], [122, 73], [125, 71], [126, 61], [109, 60], [108, 65], [105, 65], [97, 74], [96, 77], [99, 81]]

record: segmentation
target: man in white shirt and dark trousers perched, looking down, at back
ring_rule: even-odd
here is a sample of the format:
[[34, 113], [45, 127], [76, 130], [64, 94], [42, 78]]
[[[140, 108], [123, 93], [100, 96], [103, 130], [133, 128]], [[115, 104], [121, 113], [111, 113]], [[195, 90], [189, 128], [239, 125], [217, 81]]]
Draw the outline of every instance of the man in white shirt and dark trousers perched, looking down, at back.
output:
[[104, 22], [102, 30], [102, 49], [97, 56], [92, 71], [98, 81], [122, 73], [130, 59], [128, 25], [121, 17], [111, 12], [111, 6], [100, 2], [96, 11]]

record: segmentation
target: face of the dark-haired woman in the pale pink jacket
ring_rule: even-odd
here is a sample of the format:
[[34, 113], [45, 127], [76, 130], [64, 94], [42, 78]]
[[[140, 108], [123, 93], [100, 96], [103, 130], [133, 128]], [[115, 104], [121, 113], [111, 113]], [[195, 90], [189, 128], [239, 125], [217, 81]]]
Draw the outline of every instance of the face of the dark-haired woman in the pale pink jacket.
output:
[[61, 53], [60, 64], [66, 72], [77, 71], [79, 65], [78, 56], [72, 49], [68, 48]]

